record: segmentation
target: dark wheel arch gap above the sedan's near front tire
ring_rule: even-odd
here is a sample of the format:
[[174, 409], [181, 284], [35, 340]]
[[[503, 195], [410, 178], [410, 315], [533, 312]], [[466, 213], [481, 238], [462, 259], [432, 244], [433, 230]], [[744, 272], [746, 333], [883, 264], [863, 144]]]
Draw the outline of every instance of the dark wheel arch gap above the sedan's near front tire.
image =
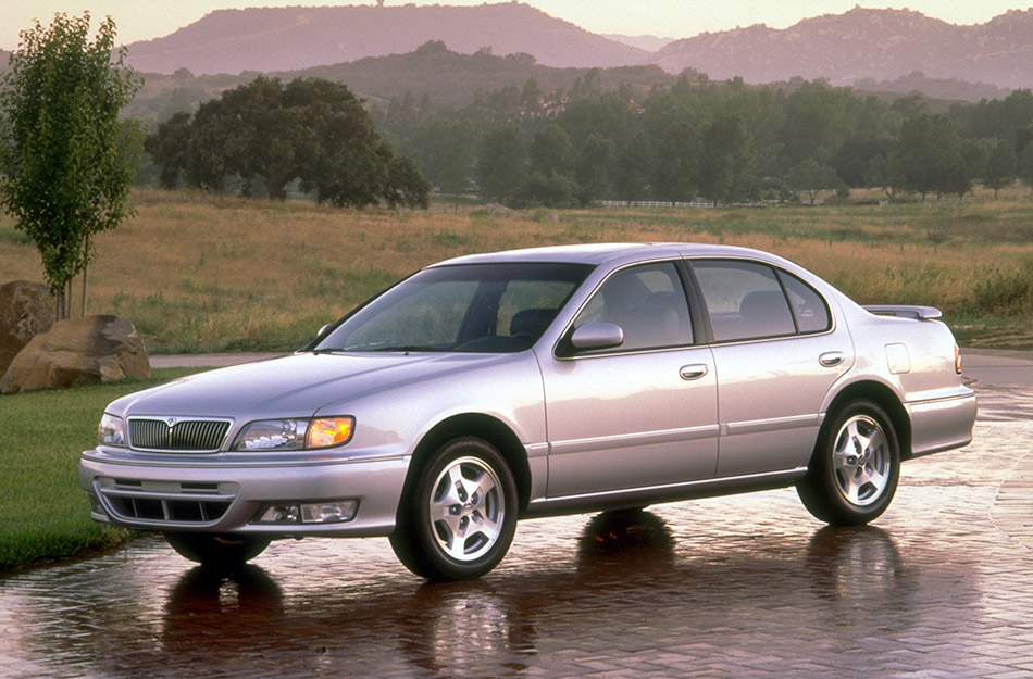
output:
[[453, 415], [424, 435], [412, 454], [412, 463], [406, 478], [406, 494], [412, 491], [413, 479], [431, 453], [452, 439], [468, 436], [484, 439], [506, 458], [516, 481], [518, 507], [523, 512], [531, 499], [531, 465], [527, 462], [527, 451], [506, 423], [481, 413]]

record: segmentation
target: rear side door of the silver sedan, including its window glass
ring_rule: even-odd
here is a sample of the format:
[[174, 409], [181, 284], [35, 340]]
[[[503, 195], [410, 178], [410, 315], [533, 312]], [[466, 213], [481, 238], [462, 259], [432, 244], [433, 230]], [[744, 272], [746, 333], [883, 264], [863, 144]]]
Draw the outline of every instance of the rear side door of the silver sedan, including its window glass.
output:
[[807, 464], [825, 394], [854, 363], [854, 344], [824, 298], [762, 262], [697, 260], [713, 330], [721, 437], [717, 476]]

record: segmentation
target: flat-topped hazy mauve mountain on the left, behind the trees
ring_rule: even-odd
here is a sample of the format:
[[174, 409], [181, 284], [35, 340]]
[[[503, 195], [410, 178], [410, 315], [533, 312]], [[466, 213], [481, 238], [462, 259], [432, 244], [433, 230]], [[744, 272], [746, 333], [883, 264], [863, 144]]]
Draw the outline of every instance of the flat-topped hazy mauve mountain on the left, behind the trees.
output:
[[137, 71], [290, 71], [400, 54], [428, 40], [472, 54], [527, 53], [549, 66], [642, 64], [650, 52], [608, 40], [527, 4], [217, 10], [175, 33], [128, 46]]

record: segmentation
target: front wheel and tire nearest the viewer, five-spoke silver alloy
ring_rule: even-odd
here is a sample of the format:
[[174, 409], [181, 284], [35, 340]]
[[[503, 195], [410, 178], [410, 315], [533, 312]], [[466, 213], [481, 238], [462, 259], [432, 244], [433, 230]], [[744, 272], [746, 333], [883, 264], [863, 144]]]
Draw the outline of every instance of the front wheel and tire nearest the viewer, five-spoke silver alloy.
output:
[[516, 482], [506, 458], [482, 439], [455, 439], [416, 470], [391, 548], [428, 580], [478, 578], [509, 551], [516, 512]]

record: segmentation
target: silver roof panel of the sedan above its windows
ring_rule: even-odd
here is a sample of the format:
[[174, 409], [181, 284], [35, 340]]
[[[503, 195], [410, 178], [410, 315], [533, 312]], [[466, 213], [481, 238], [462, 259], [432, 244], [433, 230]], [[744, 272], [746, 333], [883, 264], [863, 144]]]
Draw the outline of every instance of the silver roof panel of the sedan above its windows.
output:
[[483, 254], [469, 254], [439, 262], [434, 266], [450, 266], [453, 264], [498, 264], [502, 262], [536, 262], [536, 263], [572, 263], [599, 265], [614, 261], [635, 262], [677, 256], [706, 257], [750, 257], [769, 262], [784, 262], [781, 257], [759, 250], [738, 248], [735, 246], [715, 246], [710, 243], [687, 242], [646, 242], [646, 243], [587, 243], [574, 246], [549, 246], [543, 248], [525, 248], [521, 250], [506, 250]]

